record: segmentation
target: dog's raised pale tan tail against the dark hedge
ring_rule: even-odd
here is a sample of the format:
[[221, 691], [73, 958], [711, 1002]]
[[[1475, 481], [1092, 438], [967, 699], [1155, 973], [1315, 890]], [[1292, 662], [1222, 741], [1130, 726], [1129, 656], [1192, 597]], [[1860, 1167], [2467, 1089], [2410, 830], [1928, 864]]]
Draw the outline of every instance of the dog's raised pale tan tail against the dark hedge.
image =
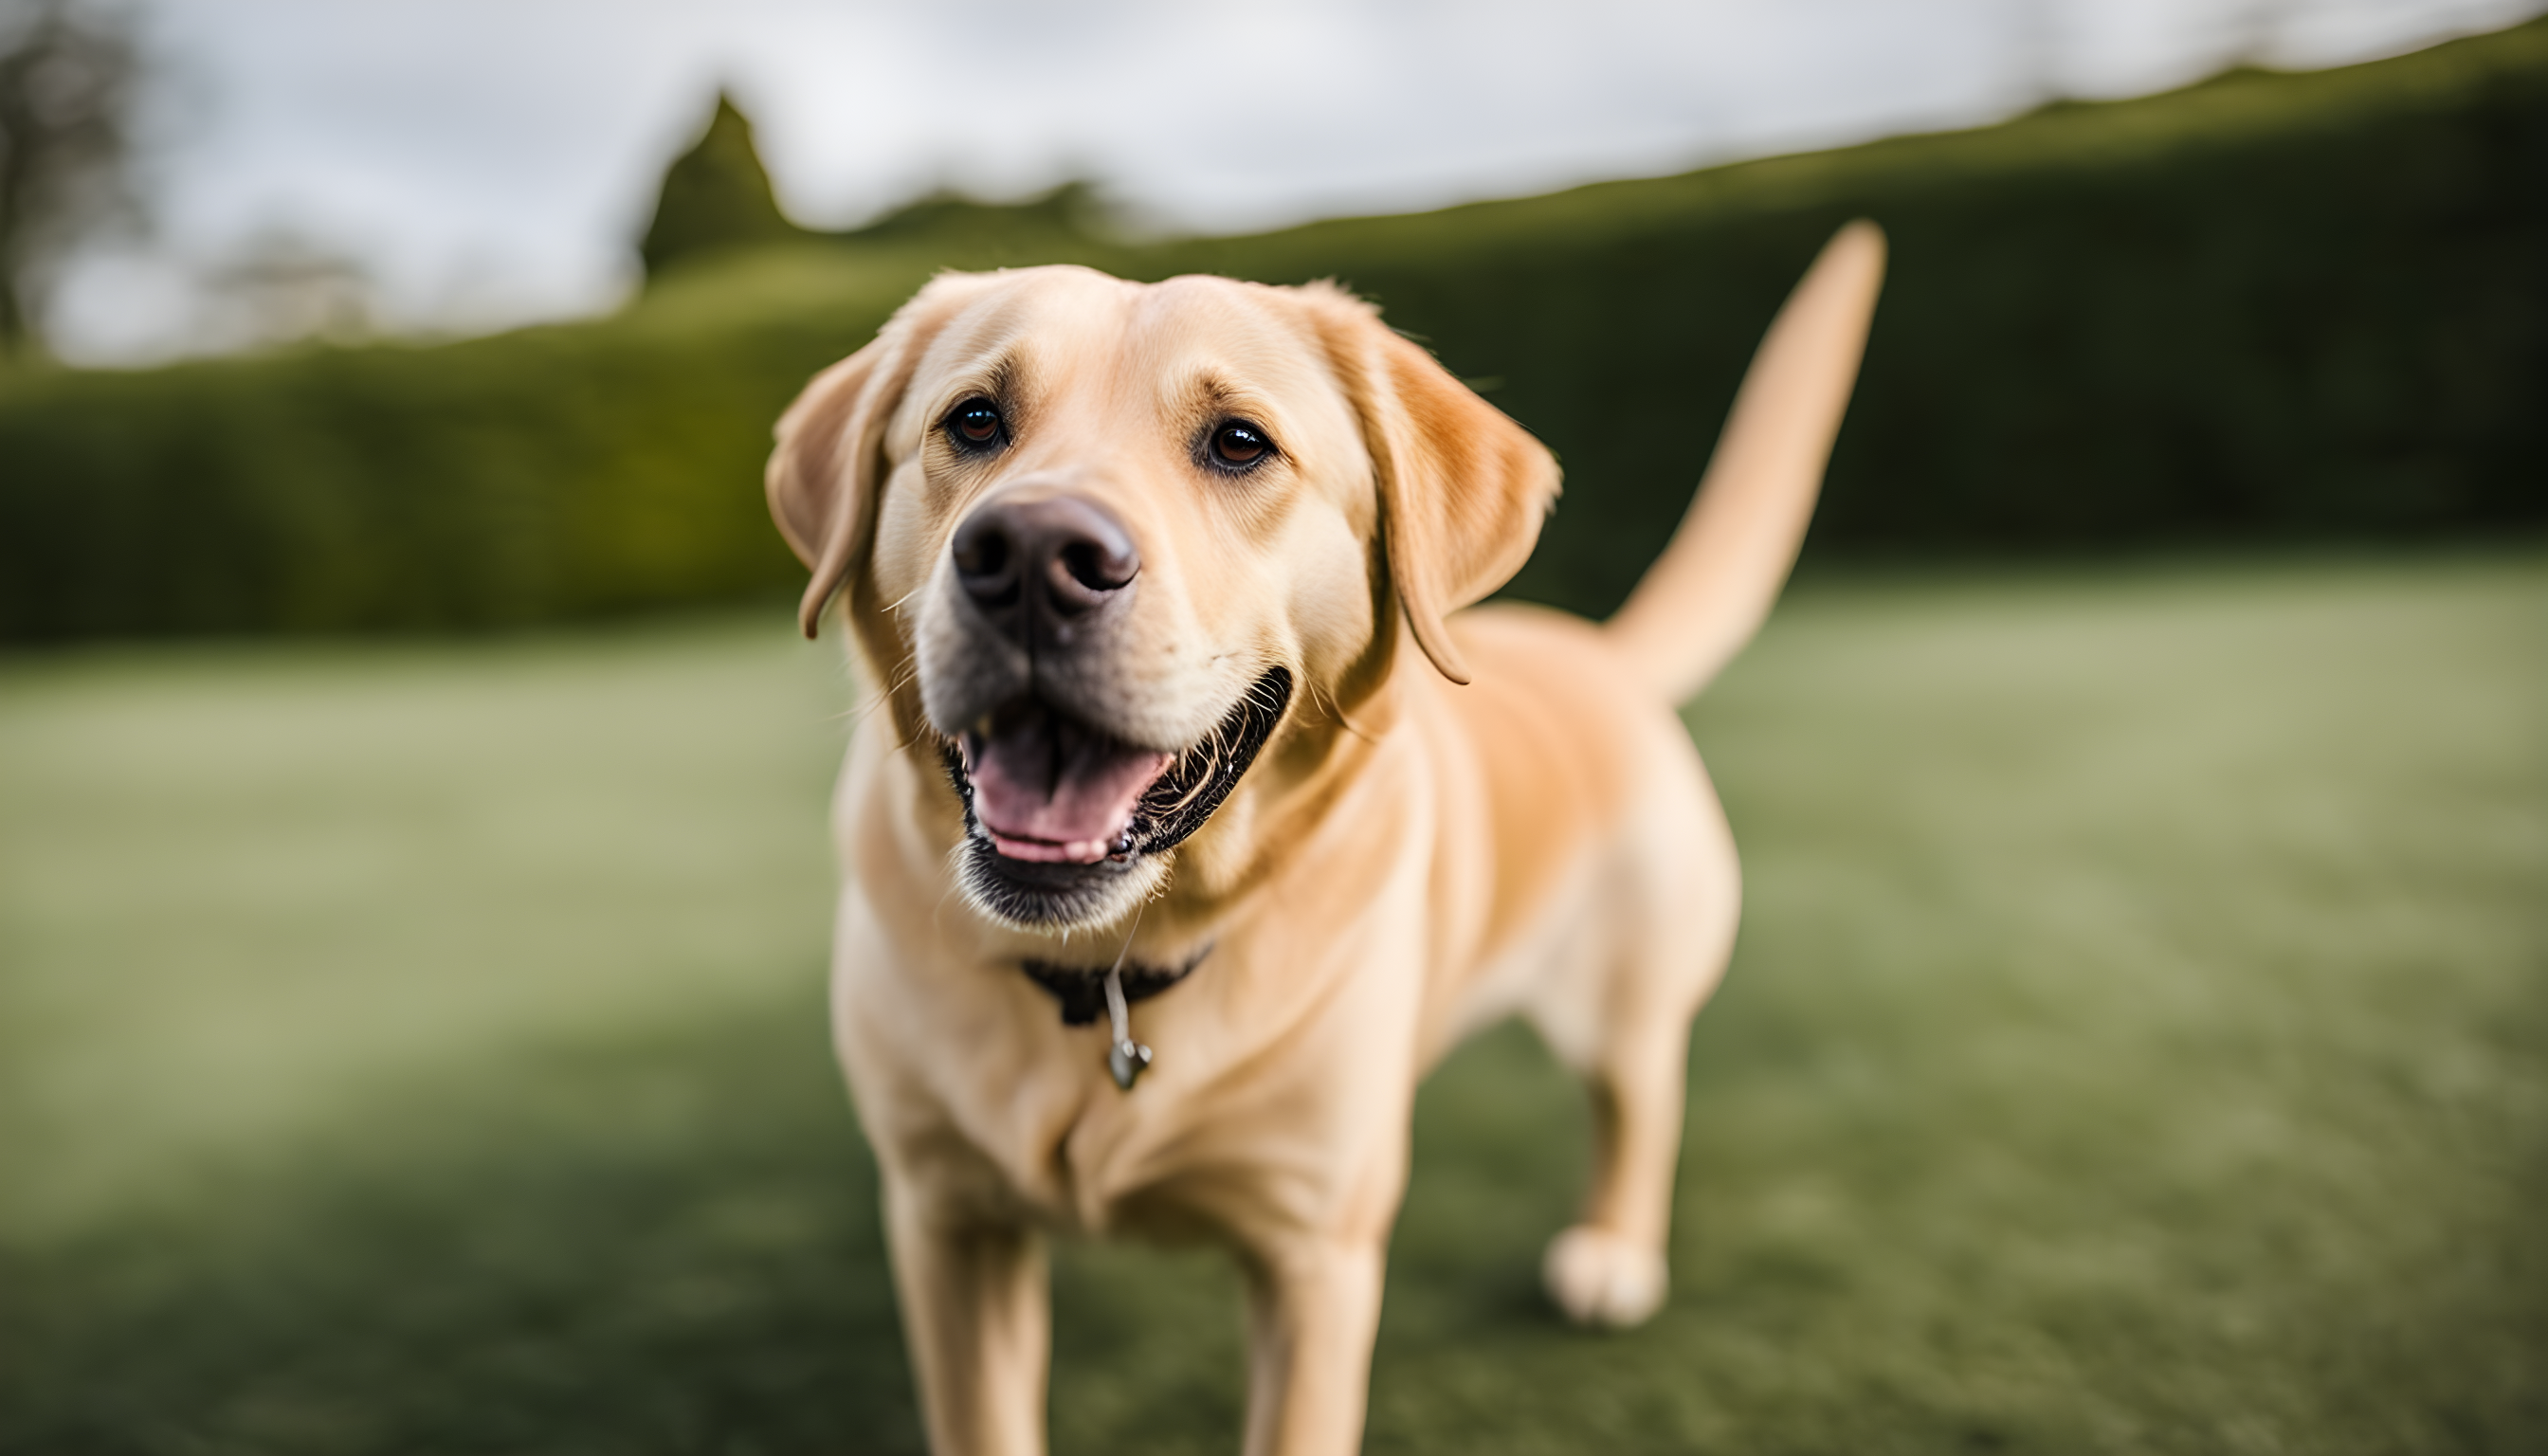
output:
[[1603, 627], [1664, 701], [1694, 699], [1779, 599], [1883, 275], [1886, 235], [1873, 222], [1852, 222], [1822, 247], [1743, 375], [1689, 515]]

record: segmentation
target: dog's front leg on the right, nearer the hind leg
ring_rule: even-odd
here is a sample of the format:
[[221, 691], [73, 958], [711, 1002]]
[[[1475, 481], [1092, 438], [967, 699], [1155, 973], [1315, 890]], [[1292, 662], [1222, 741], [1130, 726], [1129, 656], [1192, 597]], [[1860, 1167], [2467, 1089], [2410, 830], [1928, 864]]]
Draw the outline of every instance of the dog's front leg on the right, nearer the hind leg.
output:
[[1246, 1456], [1345, 1456], [1363, 1441], [1384, 1239], [1249, 1255]]

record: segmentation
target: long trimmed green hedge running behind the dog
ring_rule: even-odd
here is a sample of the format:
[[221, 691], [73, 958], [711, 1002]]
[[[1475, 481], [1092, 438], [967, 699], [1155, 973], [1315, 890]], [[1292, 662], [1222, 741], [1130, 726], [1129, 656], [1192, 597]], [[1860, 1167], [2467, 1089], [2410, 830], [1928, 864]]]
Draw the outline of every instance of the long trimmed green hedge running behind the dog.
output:
[[2548, 523], [2548, 23], [1975, 133], [1261, 237], [874, 229], [448, 347], [0, 380], [0, 637], [471, 627], [785, 592], [769, 421], [933, 265], [1335, 275], [1539, 431], [1516, 592], [1605, 609], [1771, 309], [1893, 273], [1812, 551]]

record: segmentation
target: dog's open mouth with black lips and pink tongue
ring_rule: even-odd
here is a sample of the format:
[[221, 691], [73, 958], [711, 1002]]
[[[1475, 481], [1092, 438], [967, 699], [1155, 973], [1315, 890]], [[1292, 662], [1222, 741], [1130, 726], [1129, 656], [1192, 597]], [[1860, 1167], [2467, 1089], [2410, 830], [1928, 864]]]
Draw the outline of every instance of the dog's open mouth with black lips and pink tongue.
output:
[[[1185, 752], [1129, 745], [1040, 699], [1009, 704], [943, 745], [966, 806], [971, 870], [1004, 910], [1075, 900], [1091, 880], [1185, 841], [1238, 788], [1292, 701], [1271, 668]], [[986, 887], [991, 890], [991, 887]], [[1057, 908], [1055, 908], [1057, 910]], [[1014, 915], [1042, 921], [1050, 915]]]

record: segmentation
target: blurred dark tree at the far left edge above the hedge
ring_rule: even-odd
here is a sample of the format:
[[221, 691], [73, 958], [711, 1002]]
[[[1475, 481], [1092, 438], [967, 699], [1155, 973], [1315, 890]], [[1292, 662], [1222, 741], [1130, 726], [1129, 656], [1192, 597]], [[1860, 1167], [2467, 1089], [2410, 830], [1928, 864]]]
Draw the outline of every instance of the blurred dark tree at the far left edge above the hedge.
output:
[[0, 0], [0, 352], [33, 339], [54, 270], [125, 189], [132, 41], [74, 0]]

